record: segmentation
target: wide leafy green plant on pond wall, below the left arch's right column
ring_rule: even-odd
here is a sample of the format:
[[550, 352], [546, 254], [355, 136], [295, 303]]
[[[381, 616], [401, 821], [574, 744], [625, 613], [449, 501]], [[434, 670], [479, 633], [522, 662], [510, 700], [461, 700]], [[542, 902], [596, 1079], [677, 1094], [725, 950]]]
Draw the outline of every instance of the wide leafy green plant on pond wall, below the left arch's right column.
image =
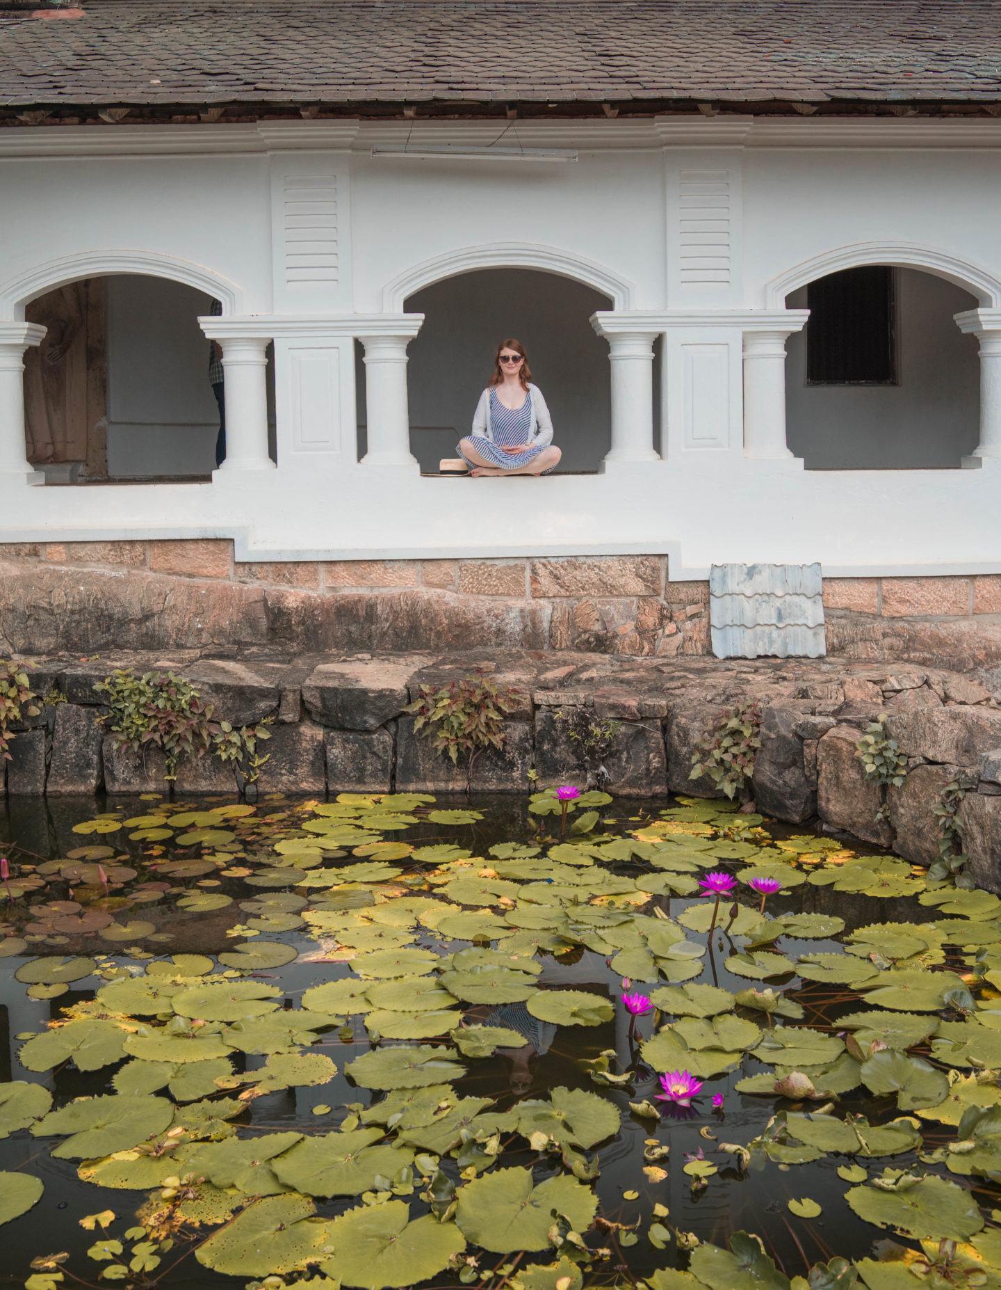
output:
[[131, 668], [116, 668], [94, 689], [104, 695], [110, 712], [100, 720], [119, 747], [138, 753], [160, 748], [170, 783], [178, 778], [182, 757], [211, 753], [220, 761], [237, 762], [247, 783], [258, 778], [268, 760], [258, 753], [258, 743], [271, 738], [271, 717], [237, 730], [228, 721], [218, 721], [213, 704], [174, 672], [137, 676]]

